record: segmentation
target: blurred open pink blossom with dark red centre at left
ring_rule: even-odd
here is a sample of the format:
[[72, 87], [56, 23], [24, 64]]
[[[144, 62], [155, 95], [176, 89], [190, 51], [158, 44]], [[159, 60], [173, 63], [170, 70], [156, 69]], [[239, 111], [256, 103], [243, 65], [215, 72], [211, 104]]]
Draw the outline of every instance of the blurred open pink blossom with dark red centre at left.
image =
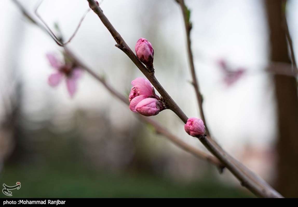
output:
[[52, 87], [58, 86], [62, 79], [66, 78], [67, 91], [70, 97], [73, 97], [77, 91], [77, 80], [82, 75], [82, 69], [75, 67], [73, 64], [63, 64], [61, 61], [56, 59], [52, 54], [46, 54], [51, 66], [56, 70], [55, 73], [49, 76], [48, 82]]

